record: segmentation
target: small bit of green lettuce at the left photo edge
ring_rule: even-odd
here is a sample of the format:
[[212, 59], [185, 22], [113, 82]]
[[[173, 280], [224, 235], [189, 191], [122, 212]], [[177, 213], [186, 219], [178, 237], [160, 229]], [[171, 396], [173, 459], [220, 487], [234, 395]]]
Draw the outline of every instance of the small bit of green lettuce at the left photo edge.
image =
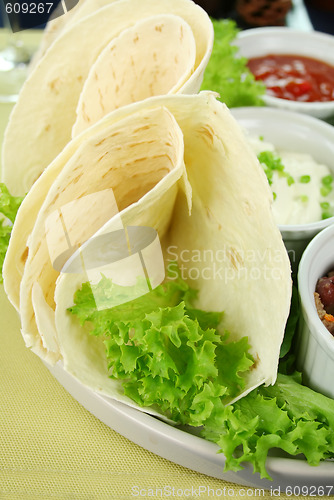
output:
[[12, 196], [5, 184], [0, 183], [0, 283], [12, 227], [23, 198]]

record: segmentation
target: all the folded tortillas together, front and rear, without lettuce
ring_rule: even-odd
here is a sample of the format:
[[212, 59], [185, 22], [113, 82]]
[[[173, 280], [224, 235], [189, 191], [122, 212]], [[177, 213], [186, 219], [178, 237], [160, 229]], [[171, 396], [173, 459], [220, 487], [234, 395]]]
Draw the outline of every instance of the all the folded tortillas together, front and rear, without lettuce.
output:
[[[196, 307], [224, 311], [231, 340], [248, 337], [255, 362], [239, 397], [273, 383], [290, 264], [270, 187], [240, 127], [213, 93], [196, 94], [212, 48], [208, 16], [190, 0], [85, 0], [57, 28], [4, 145], [4, 181], [14, 194], [29, 190], [3, 272], [26, 345], [134, 405], [108, 376], [102, 339], [68, 312], [86, 271], [59, 262], [66, 267], [122, 228], [146, 227], [163, 263], [178, 261], [198, 290]], [[154, 267], [160, 254], [151, 249], [129, 259]], [[115, 282], [126, 275], [132, 286], [138, 276], [111, 264]]]

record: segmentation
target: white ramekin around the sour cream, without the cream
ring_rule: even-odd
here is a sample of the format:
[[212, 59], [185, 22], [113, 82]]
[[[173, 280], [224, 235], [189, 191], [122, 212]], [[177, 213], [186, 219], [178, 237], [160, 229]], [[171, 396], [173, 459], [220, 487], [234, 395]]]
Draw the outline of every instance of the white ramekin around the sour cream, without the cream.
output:
[[[310, 154], [327, 165], [334, 175], [334, 127], [312, 116], [269, 107], [231, 109], [243, 129], [253, 136], [263, 136], [275, 148]], [[334, 217], [299, 225], [279, 225], [293, 271], [311, 239]]]

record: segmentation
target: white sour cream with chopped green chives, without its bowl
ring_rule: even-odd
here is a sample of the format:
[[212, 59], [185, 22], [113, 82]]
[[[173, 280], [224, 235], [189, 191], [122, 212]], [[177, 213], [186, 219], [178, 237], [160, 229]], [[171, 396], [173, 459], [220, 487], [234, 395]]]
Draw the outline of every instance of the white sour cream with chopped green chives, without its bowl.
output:
[[[277, 224], [307, 224], [321, 220], [325, 211], [334, 213], [334, 182], [329, 194], [321, 194], [321, 188], [324, 187], [322, 179], [330, 175], [334, 178], [326, 165], [316, 163], [308, 154], [276, 150], [269, 142], [252, 136], [248, 136], [248, 139], [256, 155], [262, 151], [272, 151], [279, 156], [285, 172], [294, 179], [289, 185], [287, 177], [273, 172], [271, 189], [275, 193], [273, 214]], [[309, 182], [301, 182], [305, 176], [309, 176]], [[321, 206], [323, 203], [329, 204], [327, 210]]]

